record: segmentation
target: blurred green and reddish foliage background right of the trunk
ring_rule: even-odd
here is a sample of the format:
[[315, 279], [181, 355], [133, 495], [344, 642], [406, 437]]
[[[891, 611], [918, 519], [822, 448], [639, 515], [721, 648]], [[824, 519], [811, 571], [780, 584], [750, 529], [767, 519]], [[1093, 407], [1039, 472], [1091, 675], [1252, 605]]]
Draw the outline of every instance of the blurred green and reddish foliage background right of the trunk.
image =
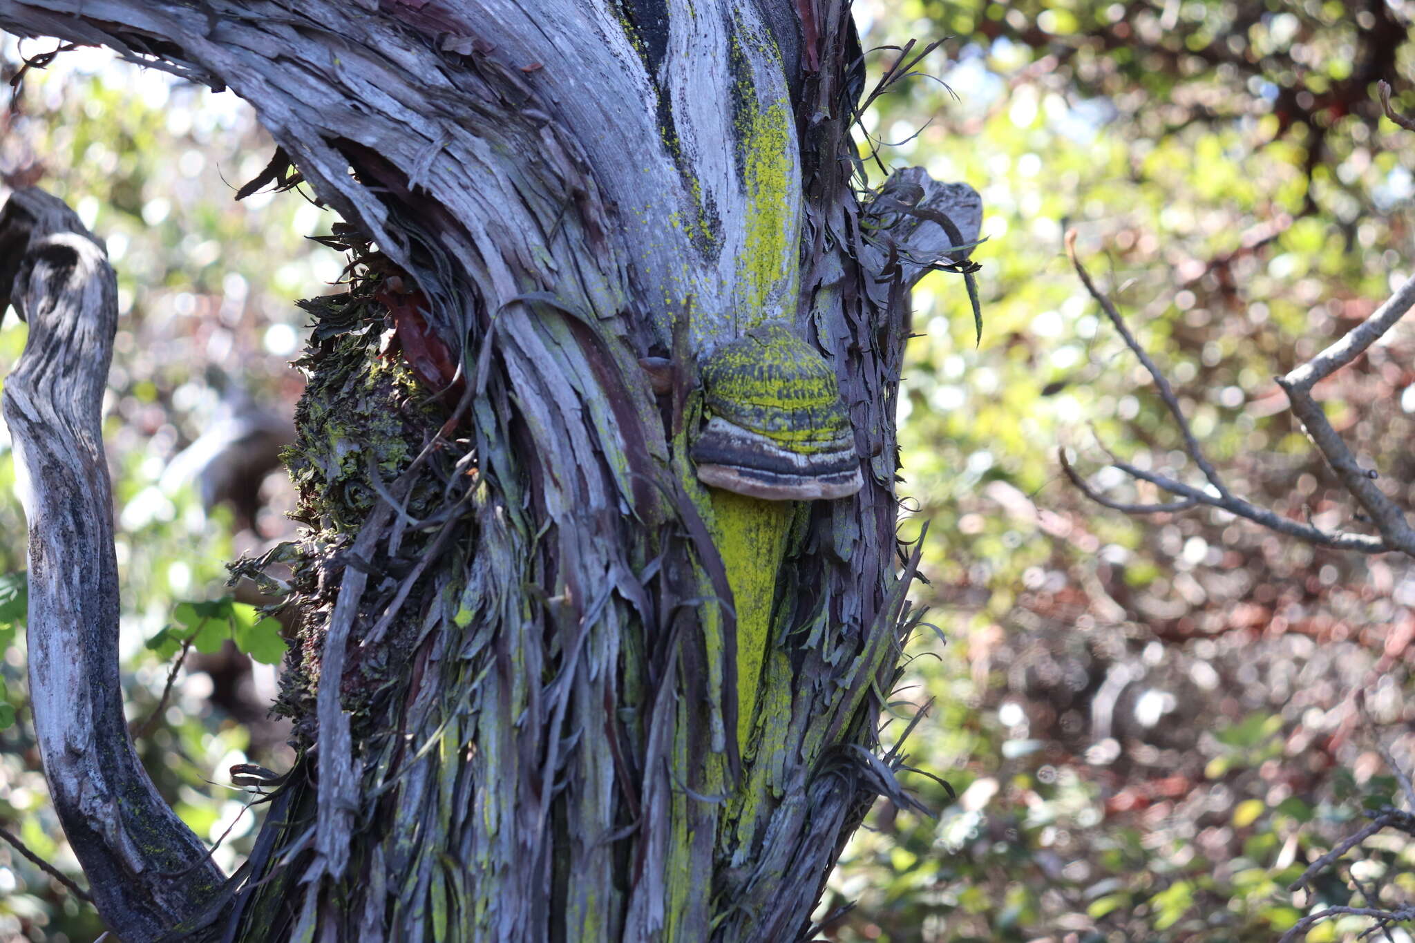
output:
[[[947, 645], [917, 640], [897, 697], [934, 698], [910, 752], [959, 799], [917, 778], [937, 820], [876, 810], [832, 882], [832, 905], [860, 901], [833, 939], [1268, 942], [1316, 906], [1367, 905], [1340, 878], [1317, 899], [1286, 886], [1363, 802], [1390, 800], [1374, 738], [1409, 761], [1415, 574], [1220, 512], [1129, 519], [1080, 496], [1057, 447], [1119, 500], [1160, 496], [1104, 471], [1105, 450], [1201, 476], [1063, 236], [1078, 232], [1231, 488], [1358, 527], [1271, 377], [1411, 274], [1415, 137], [1380, 117], [1375, 82], [1415, 106], [1415, 4], [859, 8], [876, 47], [951, 37], [918, 69], [937, 78], [866, 124], [886, 167], [975, 184], [989, 242], [981, 346], [962, 286], [931, 276], [901, 396]], [[1320, 390], [1405, 506], [1412, 355], [1405, 325]], [[1358, 874], [1388, 879], [1371, 896], [1409, 903], [1405, 843], [1367, 844]]]

